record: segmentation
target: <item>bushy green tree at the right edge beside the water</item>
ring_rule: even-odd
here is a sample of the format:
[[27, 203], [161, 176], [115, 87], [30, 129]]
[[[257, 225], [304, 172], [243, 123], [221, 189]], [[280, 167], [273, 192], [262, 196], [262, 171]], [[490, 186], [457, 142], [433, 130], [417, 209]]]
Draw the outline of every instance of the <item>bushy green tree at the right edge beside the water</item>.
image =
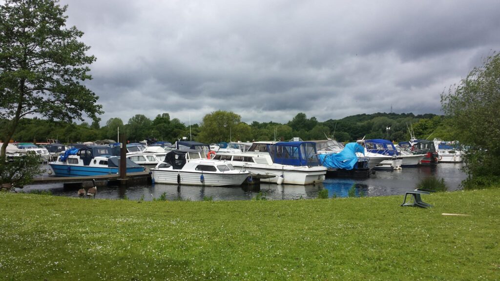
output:
[[442, 109], [467, 147], [465, 188], [500, 182], [500, 54], [474, 67], [457, 86], [441, 94]]

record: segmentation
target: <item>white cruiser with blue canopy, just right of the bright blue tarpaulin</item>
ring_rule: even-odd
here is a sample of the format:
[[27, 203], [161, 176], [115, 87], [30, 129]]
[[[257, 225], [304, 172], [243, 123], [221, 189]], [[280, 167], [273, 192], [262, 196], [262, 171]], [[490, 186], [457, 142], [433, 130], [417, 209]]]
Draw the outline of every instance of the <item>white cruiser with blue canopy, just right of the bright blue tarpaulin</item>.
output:
[[[392, 142], [385, 139], [359, 139], [356, 141], [364, 147], [365, 156], [381, 159], [374, 169], [400, 169], [402, 160], [394, 154]], [[390, 144], [389, 144], [390, 143]]]

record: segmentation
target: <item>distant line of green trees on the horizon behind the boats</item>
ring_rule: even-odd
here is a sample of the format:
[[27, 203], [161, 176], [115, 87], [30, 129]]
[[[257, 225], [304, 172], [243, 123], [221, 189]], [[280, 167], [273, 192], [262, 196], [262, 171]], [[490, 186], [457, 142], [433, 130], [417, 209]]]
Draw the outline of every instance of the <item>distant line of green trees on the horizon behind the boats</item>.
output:
[[[0, 135], [7, 126], [0, 120]], [[390, 127], [390, 129], [388, 129]], [[169, 113], [156, 115], [149, 119], [143, 114], [136, 114], [126, 123], [121, 118], [113, 117], [99, 126], [98, 122], [50, 121], [40, 118], [22, 118], [12, 140], [19, 142], [43, 142], [47, 138], [56, 138], [63, 143], [76, 141], [95, 141], [101, 139], [117, 140], [118, 130], [125, 132], [127, 139], [140, 141], [146, 138], [174, 142], [186, 137], [205, 143], [219, 141], [256, 141], [289, 140], [300, 137], [303, 140], [335, 138], [339, 141], [355, 141], [360, 138], [384, 138], [393, 141], [408, 140], [408, 128], [412, 128], [418, 138], [440, 137], [455, 139], [455, 134], [442, 115], [413, 113], [373, 113], [357, 114], [341, 119], [318, 121], [314, 116], [307, 118], [305, 113], [297, 113], [285, 123], [257, 122], [245, 123], [241, 116], [224, 110], [206, 114], [199, 124], [188, 125], [178, 118], [170, 118]]]

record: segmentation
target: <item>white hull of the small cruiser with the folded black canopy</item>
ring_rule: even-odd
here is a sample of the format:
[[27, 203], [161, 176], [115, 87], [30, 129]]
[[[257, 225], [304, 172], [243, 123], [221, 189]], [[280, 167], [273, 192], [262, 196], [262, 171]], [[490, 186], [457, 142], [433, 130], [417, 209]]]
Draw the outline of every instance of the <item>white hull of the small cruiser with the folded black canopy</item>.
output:
[[[178, 175], [178, 176], [177, 176]], [[201, 179], [203, 175], [203, 179]], [[170, 183], [182, 185], [230, 186], [241, 185], [248, 177], [248, 172], [239, 173], [209, 173], [179, 170], [151, 169], [151, 178], [155, 183]]]

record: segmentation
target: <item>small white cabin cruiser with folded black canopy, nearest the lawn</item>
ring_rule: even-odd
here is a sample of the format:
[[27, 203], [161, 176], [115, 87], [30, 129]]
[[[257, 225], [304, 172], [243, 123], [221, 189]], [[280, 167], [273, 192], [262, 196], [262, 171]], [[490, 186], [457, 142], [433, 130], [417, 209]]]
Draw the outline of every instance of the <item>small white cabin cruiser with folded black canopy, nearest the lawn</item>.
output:
[[204, 150], [189, 148], [167, 152], [150, 171], [153, 182], [187, 185], [241, 185], [249, 175], [229, 162], [207, 159]]

